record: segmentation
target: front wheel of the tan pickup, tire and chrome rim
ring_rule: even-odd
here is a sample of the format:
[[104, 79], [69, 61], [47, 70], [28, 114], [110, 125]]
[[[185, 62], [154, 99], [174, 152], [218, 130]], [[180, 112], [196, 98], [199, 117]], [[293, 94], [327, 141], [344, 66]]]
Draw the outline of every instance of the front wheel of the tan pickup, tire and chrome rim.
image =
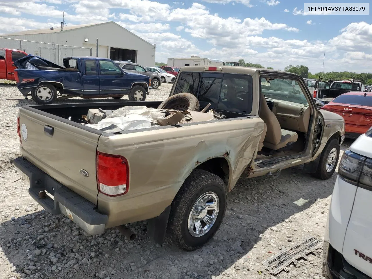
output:
[[339, 141], [334, 138], [325, 145], [324, 150], [320, 154], [317, 171], [313, 174], [314, 177], [326, 180], [330, 178], [336, 170], [340, 156]]

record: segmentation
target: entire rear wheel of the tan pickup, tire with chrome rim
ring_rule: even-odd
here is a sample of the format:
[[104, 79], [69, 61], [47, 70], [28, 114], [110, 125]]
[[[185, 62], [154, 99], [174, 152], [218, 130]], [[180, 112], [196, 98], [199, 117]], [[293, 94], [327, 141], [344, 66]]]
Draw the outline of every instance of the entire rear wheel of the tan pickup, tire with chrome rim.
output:
[[171, 205], [168, 231], [181, 249], [195, 250], [217, 232], [226, 211], [225, 183], [205, 170], [193, 170]]

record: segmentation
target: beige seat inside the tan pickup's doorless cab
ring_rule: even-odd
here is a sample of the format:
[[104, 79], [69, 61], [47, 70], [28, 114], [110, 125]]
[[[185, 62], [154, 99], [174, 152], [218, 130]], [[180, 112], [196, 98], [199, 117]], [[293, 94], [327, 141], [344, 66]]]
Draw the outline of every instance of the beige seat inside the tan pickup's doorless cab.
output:
[[278, 150], [297, 141], [297, 133], [280, 128], [278, 119], [266, 103], [265, 96], [261, 94], [260, 118], [265, 122], [267, 131], [263, 146], [272, 150]]

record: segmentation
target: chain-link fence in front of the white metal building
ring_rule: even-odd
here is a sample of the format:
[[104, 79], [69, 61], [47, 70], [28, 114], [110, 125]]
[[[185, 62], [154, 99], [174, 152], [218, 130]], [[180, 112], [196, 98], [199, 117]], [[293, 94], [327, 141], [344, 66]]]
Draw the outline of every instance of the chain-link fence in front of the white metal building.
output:
[[92, 48], [74, 47], [0, 37], [0, 48], [18, 49], [27, 54], [34, 54], [55, 64], [62, 65], [62, 59], [69, 56], [92, 56]]

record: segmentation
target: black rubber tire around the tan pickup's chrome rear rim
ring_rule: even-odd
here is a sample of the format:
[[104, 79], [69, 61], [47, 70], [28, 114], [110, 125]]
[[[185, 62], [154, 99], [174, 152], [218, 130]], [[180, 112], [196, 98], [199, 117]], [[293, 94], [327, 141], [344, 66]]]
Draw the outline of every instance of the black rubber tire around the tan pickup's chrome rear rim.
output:
[[[214, 192], [219, 199], [219, 211], [209, 231], [194, 237], [190, 234], [187, 222], [194, 203], [206, 192]], [[187, 177], [171, 204], [168, 220], [168, 234], [174, 244], [185, 251], [192, 251], [203, 246], [217, 232], [226, 211], [225, 183], [217, 175], [196, 169]]]

